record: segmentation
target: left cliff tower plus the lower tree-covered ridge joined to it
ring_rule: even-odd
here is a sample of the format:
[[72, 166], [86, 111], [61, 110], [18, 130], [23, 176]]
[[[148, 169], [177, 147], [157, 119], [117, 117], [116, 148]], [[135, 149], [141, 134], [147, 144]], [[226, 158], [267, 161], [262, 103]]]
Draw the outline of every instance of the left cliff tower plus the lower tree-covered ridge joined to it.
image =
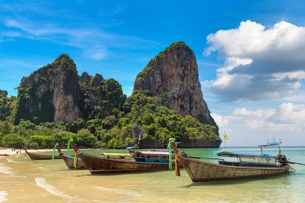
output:
[[103, 119], [114, 108], [120, 109], [125, 99], [116, 80], [105, 80], [100, 74], [93, 77], [83, 73], [79, 77], [74, 61], [62, 54], [22, 78], [13, 116], [15, 124], [20, 119], [38, 123], [64, 120], [71, 124], [78, 118]]

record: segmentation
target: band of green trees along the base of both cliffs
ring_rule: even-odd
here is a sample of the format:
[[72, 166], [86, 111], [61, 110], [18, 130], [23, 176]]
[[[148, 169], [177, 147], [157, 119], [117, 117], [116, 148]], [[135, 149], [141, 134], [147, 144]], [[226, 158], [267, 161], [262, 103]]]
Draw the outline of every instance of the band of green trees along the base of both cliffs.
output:
[[[19, 125], [0, 122], [0, 146], [53, 147], [54, 143], [65, 145], [71, 137], [79, 146], [125, 148], [138, 141], [138, 127], [144, 143], [165, 145], [170, 137], [177, 141], [221, 143], [215, 126], [202, 124], [192, 116], [182, 117], [167, 107], [165, 94], [151, 97], [149, 91], [136, 90], [125, 102], [122, 110], [113, 109], [105, 119], [84, 120], [67, 124], [45, 122], [36, 125], [21, 119]], [[142, 145], [143, 144], [143, 145]], [[149, 145], [147, 145], [149, 146]]]

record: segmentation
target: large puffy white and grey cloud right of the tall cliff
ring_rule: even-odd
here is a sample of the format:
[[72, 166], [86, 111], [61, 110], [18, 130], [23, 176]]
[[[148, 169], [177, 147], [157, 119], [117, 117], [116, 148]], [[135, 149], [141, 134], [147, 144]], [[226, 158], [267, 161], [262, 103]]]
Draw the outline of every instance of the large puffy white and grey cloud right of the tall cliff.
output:
[[[250, 20], [207, 36], [204, 54], [226, 58], [208, 85], [220, 100], [278, 99], [293, 95], [305, 78], [305, 28], [282, 21], [270, 29]], [[205, 82], [208, 84], [208, 82]]]

